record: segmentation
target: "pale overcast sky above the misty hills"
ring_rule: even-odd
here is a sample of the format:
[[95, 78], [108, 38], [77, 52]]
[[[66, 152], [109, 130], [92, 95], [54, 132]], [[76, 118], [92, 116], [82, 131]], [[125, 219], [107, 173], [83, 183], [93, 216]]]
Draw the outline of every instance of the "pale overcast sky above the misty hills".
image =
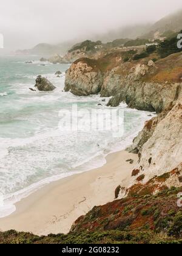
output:
[[5, 48], [32, 48], [155, 22], [182, 8], [181, 0], [1, 0]]

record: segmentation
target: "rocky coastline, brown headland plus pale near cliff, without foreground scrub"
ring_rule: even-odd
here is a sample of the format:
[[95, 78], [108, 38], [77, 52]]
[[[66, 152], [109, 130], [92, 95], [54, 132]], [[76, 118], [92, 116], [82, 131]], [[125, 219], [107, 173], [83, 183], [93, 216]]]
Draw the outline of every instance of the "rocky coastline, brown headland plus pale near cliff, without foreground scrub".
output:
[[[107, 103], [110, 107], [126, 102], [130, 108], [157, 112], [127, 149], [139, 156], [138, 175], [131, 180], [131, 187], [138, 184], [137, 179], [144, 184], [174, 169], [178, 175], [165, 185], [180, 187], [182, 54], [155, 62], [153, 53], [138, 61], [132, 60], [133, 54], [136, 52], [114, 51], [100, 59], [76, 60], [66, 73], [65, 90], [78, 96], [100, 93], [101, 97], [112, 97]], [[127, 190], [121, 186], [121, 197], [123, 193]]]

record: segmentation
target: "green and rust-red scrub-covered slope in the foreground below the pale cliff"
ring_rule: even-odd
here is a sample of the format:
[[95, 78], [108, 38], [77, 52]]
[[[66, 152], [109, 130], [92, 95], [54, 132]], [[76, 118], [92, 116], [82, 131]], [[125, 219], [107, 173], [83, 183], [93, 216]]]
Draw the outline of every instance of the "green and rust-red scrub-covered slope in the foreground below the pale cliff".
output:
[[[162, 179], [163, 177], [160, 177]], [[68, 235], [35, 236], [14, 230], [0, 233], [0, 243], [181, 243], [181, 188], [164, 188], [156, 196], [133, 194], [94, 207], [81, 216]]]

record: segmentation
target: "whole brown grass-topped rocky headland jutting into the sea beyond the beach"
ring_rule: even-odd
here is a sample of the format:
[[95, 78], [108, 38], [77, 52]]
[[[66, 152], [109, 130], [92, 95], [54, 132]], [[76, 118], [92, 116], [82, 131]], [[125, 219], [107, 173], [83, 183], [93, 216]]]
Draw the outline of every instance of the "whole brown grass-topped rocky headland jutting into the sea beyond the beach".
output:
[[[109, 106], [116, 107], [124, 101], [131, 108], [160, 113], [182, 99], [182, 54], [173, 54], [155, 63], [150, 57], [125, 62], [126, 54], [129, 53], [116, 52], [110, 58], [76, 60], [67, 72], [66, 91], [74, 86], [71, 91], [75, 94], [76, 91], [78, 95], [90, 94], [87, 93], [90, 91], [88, 77], [93, 76], [94, 69], [95, 79], [91, 84], [97, 88], [91, 92], [100, 92], [102, 97], [113, 96]], [[87, 63], [84, 70], [83, 63]]]

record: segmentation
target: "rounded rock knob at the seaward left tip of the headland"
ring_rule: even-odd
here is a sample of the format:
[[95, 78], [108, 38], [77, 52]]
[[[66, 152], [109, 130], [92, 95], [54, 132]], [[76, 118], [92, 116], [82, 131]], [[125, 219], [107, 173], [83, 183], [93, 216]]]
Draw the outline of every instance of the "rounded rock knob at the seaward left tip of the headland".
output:
[[72, 64], [66, 73], [65, 91], [77, 96], [98, 94], [103, 84], [103, 74], [95, 60], [80, 59]]

